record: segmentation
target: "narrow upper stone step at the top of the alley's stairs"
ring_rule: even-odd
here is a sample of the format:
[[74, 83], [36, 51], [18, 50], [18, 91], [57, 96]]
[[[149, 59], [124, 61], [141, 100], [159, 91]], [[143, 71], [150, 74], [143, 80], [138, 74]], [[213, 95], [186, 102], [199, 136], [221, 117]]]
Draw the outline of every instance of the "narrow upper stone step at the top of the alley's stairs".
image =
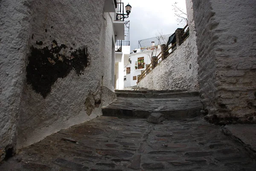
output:
[[129, 98], [169, 98], [169, 97], [189, 97], [189, 96], [199, 96], [198, 91], [183, 91], [175, 93], [162, 93], [158, 91], [138, 91], [136, 93], [124, 93], [116, 92], [117, 97], [129, 97]]

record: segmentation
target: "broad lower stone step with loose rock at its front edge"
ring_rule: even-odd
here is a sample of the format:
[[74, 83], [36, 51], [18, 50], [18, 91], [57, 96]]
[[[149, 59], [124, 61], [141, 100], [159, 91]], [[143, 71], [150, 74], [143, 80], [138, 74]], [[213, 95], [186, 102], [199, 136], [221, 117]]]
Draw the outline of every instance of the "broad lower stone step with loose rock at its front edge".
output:
[[184, 119], [201, 116], [201, 110], [199, 96], [166, 99], [117, 97], [117, 101], [102, 108], [102, 114], [121, 118], [147, 118], [150, 113], [159, 112], [163, 113], [165, 119]]

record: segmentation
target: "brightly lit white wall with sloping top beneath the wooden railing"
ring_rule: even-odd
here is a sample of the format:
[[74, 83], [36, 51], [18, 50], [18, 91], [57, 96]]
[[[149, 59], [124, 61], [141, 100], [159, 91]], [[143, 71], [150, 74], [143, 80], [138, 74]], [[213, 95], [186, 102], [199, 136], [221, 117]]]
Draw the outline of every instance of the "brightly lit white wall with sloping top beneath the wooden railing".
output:
[[[193, 20], [192, 2], [186, 0], [189, 23], [189, 37], [160, 62], [139, 83], [139, 87], [149, 90], [199, 90], [198, 84], [198, 49], [196, 46], [195, 23]], [[191, 64], [191, 68], [189, 68]]]

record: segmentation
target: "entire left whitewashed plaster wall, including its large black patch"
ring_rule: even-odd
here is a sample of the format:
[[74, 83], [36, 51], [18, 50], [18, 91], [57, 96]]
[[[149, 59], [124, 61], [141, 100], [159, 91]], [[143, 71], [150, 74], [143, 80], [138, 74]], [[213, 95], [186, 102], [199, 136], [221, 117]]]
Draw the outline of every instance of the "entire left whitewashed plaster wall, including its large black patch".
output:
[[113, 24], [103, 6], [104, 0], [0, 2], [1, 152], [93, 119], [115, 99]]

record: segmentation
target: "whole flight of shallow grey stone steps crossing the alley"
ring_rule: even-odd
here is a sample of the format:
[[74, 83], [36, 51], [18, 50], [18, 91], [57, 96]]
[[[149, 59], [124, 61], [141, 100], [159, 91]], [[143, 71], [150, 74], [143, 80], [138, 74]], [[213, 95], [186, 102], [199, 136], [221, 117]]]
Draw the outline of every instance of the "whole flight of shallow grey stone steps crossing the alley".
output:
[[103, 116], [147, 118], [152, 112], [166, 119], [201, 116], [199, 93], [183, 90], [115, 90], [117, 100], [102, 108]]

